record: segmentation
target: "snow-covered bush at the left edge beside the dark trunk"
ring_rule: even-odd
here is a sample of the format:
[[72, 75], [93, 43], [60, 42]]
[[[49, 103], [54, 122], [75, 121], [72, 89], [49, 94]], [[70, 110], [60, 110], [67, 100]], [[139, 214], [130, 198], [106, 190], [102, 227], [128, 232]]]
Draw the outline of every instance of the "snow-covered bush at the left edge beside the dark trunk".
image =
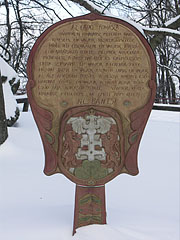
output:
[[16, 99], [13, 94], [16, 93], [20, 81], [17, 73], [1, 57], [0, 57], [0, 72], [3, 83], [7, 125], [11, 127], [19, 118], [19, 108], [17, 106]]

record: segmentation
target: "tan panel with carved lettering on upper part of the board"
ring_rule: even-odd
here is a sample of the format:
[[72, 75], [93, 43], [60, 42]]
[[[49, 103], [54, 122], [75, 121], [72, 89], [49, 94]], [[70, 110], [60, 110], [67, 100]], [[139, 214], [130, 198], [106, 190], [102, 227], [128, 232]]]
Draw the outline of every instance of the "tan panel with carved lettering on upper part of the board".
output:
[[69, 22], [55, 28], [36, 53], [33, 88], [62, 111], [78, 105], [120, 107], [125, 115], [147, 102], [151, 69], [135, 33], [121, 24]]

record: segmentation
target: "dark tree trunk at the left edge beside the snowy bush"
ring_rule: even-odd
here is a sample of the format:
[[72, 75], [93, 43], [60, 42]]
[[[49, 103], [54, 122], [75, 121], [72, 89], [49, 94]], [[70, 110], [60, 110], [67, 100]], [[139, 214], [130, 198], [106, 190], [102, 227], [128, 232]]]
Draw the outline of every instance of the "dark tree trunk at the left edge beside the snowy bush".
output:
[[5, 107], [4, 107], [2, 80], [0, 75], [0, 144], [5, 142], [7, 137], [8, 137], [7, 120], [6, 120]]

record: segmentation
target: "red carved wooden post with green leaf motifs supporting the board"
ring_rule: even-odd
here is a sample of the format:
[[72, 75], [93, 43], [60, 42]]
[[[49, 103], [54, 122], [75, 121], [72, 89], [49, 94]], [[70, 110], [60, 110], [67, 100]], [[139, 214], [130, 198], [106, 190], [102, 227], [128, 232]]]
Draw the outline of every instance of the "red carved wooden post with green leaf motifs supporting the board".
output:
[[76, 185], [73, 235], [90, 224], [106, 224], [105, 186]]

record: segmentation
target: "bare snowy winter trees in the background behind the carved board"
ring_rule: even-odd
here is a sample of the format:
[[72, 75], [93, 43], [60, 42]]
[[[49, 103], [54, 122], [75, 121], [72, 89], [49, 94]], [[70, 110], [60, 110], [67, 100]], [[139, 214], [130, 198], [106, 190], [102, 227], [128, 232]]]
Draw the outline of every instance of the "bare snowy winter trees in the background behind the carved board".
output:
[[26, 63], [40, 34], [64, 18], [89, 12], [135, 22], [157, 59], [156, 102], [179, 104], [179, 0], [0, 0], [0, 56], [18, 73], [26, 92]]

